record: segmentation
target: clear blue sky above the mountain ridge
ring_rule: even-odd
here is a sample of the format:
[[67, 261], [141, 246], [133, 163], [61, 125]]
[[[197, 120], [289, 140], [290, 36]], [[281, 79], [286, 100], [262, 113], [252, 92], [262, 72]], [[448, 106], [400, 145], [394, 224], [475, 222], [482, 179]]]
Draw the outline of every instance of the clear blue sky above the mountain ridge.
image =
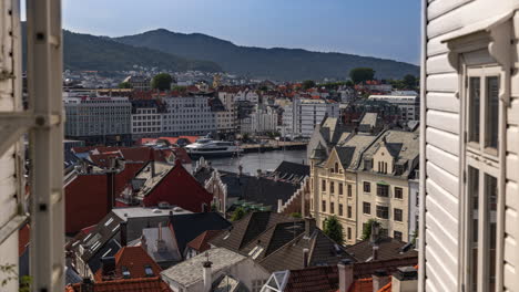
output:
[[343, 52], [418, 64], [420, 2], [63, 0], [63, 28], [109, 36], [163, 28], [238, 45]]

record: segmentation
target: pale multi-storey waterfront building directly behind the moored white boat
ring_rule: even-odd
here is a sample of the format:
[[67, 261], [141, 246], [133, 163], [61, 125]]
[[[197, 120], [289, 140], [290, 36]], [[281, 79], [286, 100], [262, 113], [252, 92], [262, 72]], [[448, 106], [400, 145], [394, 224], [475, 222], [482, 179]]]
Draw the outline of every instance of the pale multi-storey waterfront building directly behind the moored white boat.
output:
[[206, 135], [216, 132], [216, 118], [211, 111], [208, 96], [170, 96], [163, 101], [166, 106], [162, 116], [163, 135]]

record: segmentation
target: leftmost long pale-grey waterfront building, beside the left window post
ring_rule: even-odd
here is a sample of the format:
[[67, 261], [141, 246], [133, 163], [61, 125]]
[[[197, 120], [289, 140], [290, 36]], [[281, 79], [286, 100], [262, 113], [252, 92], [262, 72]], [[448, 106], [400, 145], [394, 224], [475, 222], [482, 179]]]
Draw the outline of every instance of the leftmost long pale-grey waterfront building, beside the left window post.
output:
[[86, 143], [128, 142], [132, 104], [128, 97], [64, 97], [65, 136]]

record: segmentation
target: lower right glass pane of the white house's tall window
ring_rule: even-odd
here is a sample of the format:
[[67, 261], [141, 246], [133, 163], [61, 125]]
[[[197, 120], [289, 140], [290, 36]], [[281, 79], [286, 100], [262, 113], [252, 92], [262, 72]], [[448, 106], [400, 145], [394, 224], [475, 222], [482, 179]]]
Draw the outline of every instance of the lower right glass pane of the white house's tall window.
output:
[[487, 230], [488, 230], [488, 284], [487, 291], [496, 291], [496, 243], [497, 243], [497, 178], [485, 175], [485, 196], [487, 199]]

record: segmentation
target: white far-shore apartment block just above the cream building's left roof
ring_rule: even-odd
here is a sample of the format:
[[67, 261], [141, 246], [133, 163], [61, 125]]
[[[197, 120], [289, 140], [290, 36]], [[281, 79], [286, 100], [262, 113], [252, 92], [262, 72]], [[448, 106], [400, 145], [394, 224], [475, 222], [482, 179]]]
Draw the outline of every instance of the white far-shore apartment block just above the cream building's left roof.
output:
[[325, 100], [295, 98], [292, 104], [283, 108], [285, 135], [292, 133], [294, 137], [311, 137], [315, 126], [320, 124], [325, 116], [338, 117], [339, 115], [339, 105]]

